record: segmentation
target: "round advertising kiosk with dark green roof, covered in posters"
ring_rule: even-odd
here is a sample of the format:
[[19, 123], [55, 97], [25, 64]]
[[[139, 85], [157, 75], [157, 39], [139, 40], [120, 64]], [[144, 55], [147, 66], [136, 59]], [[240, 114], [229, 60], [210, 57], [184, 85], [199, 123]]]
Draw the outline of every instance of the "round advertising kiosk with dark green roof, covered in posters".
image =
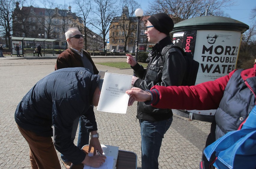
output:
[[[199, 62], [196, 84], [215, 80], [236, 68], [242, 33], [249, 26], [222, 16], [199, 16], [174, 25], [173, 43]], [[211, 121], [216, 110], [173, 110], [190, 120]]]

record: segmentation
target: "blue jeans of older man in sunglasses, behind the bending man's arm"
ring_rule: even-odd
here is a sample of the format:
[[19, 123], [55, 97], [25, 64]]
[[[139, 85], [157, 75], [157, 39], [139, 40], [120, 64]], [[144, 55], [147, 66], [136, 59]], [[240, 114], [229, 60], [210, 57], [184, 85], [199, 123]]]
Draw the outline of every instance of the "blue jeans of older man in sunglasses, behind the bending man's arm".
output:
[[[78, 133], [78, 140], [77, 140], [77, 147], [79, 147], [80, 149], [82, 149], [82, 147], [86, 144], [89, 144], [89, 136], [90, 133], [87, 132], [86, 128], [85, 128], [85, 123], [82, 120], [81, 117], [78, 117], [75, 119], [74, 123], [73, 123], [73, 129], [72, 129], [72, 134], [71, 134], [71, 139], [72, 141], [75, 140], [75, 135], [76, 135], [76, 131], [77, 131], [77, 127], [78, 127], [78, 123], [79, 125], [79, 133]], [[60, 154], [61, 159], [64, 162], [69, 162], [70, 160], [67, 159], [63, 154]]]

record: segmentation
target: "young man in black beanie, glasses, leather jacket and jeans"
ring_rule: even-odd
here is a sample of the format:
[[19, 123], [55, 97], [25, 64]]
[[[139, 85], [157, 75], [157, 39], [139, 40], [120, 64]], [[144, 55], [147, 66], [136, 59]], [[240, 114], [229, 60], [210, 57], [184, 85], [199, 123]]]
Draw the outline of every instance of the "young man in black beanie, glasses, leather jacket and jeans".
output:
[[[148, 54], [146, 69], [126, 54], [126, 62], [137, 76], [133, 76], [132, 85], [143, 90], [150, 90], [154, 85], [180, 86], [186, 70], [181, 51], [170, 48], [163, 53], [165, 46], [173, 44], [169, 35], [174, 26], [172, 19], [165, 13], [157, 13], [148, 18], [145, 26], [148, 42], [155, 45]], [[172, 123], [172, 110], [138, 102], [137, 118], [141, 127], [142, 169], [157, 169], [162, 139]]]

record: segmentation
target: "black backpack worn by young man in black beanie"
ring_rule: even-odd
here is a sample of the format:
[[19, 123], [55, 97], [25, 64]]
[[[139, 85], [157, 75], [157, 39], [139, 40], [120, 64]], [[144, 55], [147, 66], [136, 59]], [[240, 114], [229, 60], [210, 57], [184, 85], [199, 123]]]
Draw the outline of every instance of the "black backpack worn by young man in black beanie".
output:
[[[162, 57], [165, 56], [166, 52], [170, 49], [170, 48], [177, 48], [181, 51], [181, 53], [183, 54], [185, 60], [186, 60], [186, 71], [184, 74], [184, 78], [182, 80], [181, 86], [194, 86], [196, 83], [196, 79], [197, 79], [197, 72], [198, 72], [198, 68], [199, 68], [199, 62], [195, 61], [193, 59], [193, 55], [191, 52], [184, 52], [183, 49], [181, 49], [180, 47], [176, 46], [176, 45], [167, 45], [163, 48], [162, 50]], [[164, 59], [163, 59], [163, 64], [164, 64]], [[161, 66], [161, 68], [163, 68], [163, 66]]]

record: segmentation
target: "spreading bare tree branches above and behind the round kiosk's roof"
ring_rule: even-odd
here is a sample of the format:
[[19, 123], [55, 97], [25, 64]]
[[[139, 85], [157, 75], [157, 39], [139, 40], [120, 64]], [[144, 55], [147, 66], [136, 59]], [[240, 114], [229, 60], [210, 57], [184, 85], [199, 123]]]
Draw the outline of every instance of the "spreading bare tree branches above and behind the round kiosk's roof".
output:
[[205, 15], [207, 4], [209, 4], [208, 11], [215, 15], [221, 7], [230, 7], [235, 3], [233, 0], [154, 0], [146, 14], [163, 12], [176, 17], [175, 21], [180, 22], [197, 16], [198, 12], [200, 15]]

